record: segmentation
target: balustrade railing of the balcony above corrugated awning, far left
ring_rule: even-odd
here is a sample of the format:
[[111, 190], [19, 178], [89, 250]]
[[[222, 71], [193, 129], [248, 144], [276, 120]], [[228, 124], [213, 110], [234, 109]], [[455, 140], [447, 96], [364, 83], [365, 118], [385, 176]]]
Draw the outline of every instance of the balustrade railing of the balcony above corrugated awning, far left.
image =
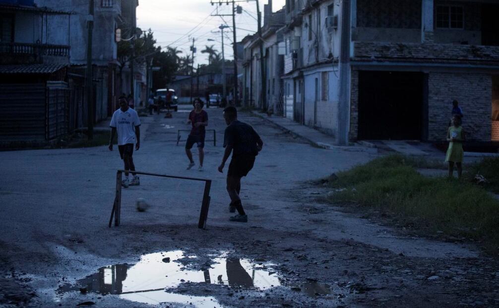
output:
[[0, 53], [69, 56], [69, 46], [0, 42]]

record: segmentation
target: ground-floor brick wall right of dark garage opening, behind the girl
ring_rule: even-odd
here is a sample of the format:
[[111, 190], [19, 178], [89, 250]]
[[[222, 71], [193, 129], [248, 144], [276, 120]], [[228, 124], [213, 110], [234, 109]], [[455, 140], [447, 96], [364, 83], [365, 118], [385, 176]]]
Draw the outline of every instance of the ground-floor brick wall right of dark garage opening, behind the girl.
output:
[[428, 78], [428, 133], [444, 140], [451, 118], [452, 100], [463, 108], [468, 139], [491, 140], [492, 77], [480, 73], [430, 72]]

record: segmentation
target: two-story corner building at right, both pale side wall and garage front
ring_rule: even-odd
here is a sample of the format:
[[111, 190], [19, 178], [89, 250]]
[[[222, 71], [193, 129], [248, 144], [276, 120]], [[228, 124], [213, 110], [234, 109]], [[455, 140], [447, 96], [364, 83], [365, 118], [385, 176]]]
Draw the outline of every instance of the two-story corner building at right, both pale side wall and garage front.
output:
[[499, 140], [499, 1], [286, 0], [284, 11], [284, 116], [342, 143], [439, 141], [458, 100], [470, 139]]

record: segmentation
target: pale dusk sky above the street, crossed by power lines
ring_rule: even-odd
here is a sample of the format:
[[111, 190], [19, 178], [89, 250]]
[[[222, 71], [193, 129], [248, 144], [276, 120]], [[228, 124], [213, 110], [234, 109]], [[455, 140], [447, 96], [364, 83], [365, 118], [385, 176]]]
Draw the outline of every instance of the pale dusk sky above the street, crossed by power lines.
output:
[[[273, 0], [272, 10], [276, 11], [284, 5], [285, 0]], [[267, 0], [259, 0], [260, 10]], [[256, 4], [254, 1], [240, 2], [243, 13], [236, 15], [236, 34], [240, 41], [249, 33], [256, 31]], [[192, 38], [196, 39], [195, 45], [198, 52], [195, 54], [195, 65], [197, 63], [208, 63], [208, 54], [201, 53], [205, 45], [215, 45], [215, 49], [222, 51], [221, 33], [219, 26], [227, 22], [231, 28], [224, 29], [225, 56], [233, 58], [232, 52], [232, 17], [210, 16], [216, 14], [230, 14], [232, 4], [211, 5], [210, 0], [141, 0], [137, 7], [137, 25], [143, 30], [151, 28], [158, 45], [168, 45], [183, 50], [181, 56], [186, 52], [191, 54], [189, 47]], [[225, 21], [224, 21], [225, 20]], [[208, 39], [215, 41], [208, 41]]]

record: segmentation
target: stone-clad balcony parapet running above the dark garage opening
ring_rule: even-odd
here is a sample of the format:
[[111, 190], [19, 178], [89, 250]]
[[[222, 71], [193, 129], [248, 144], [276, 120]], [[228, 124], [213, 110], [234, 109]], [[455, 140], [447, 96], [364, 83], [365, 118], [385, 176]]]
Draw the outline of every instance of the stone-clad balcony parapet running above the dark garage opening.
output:
[[356, 41], [354, 57], [358, 60], [408, 59], [411, 61], [492, 61], [499, 62], [498, 46], [387, 43]]

